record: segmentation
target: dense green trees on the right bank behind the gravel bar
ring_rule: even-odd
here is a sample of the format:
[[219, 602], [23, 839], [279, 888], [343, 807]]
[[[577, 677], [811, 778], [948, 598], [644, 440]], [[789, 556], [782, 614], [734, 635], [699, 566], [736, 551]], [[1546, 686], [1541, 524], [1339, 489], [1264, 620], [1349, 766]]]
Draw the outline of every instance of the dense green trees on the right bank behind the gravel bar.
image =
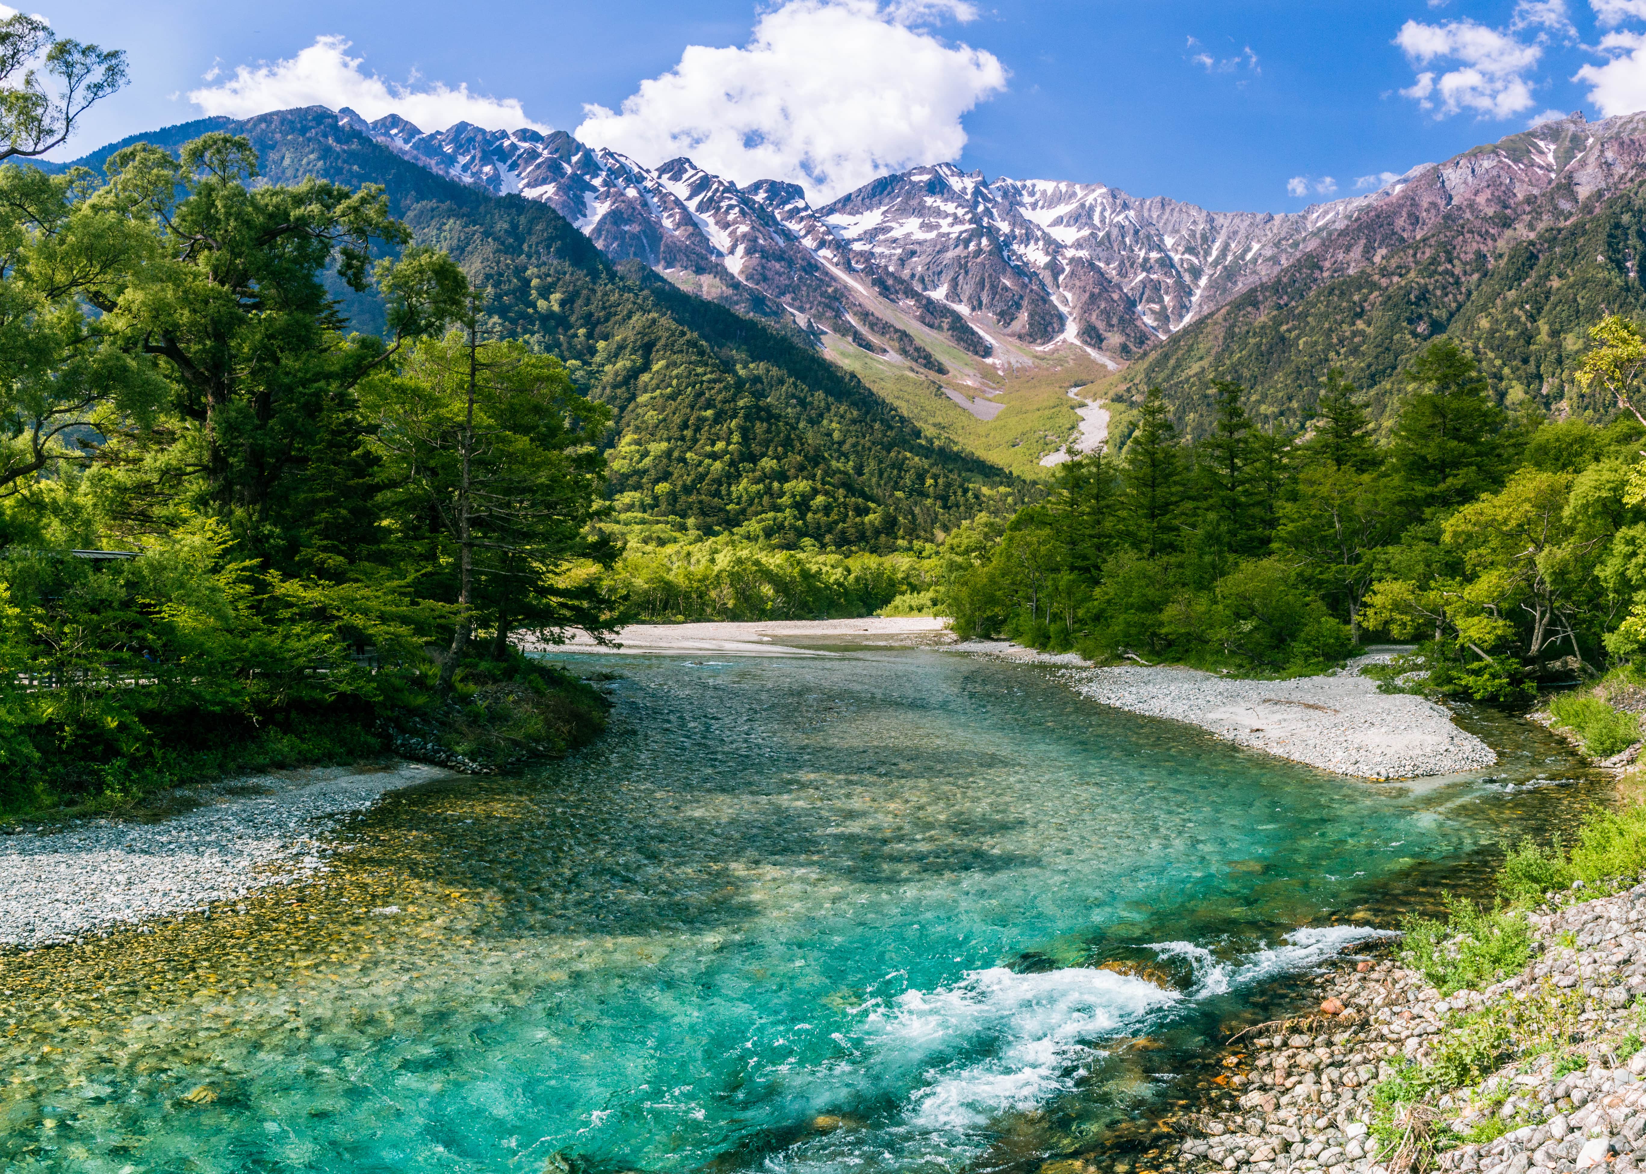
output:
[[1623, 318], [1592, 333], [1574, 379], [1621, 408], [1603, 425], [1506, 412], [1450, 338], [1404, 366], [1381, 445], [1338, 370], [1295, 435], [1218, 380], [1190, 443], [1152, 390], [1119, 458], [1063, 466], [948, 583], [956, 629], [1259, 673], [1394, 637], [1429, 687], [1498, 700], [1590, 675], [1646, 639], [1646, 352]]

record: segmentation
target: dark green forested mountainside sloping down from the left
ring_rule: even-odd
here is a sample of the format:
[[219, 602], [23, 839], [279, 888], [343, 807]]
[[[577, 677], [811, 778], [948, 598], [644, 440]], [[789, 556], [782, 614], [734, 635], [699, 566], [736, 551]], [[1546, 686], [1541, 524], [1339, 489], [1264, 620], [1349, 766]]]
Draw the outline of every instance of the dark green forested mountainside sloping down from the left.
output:
[[[217, 127], [145, 138], [170, 147]], [[928, 441], [798, 333], [680, 293], [644, 267], [619, 272], [545, 204], [435, 176], [323, 109], [232, 128], [272, 183], [384, 184], [415, 242], [449, 252], [489, 290], [504, 334], [561, 357], [612, 408], [619, 517], [741, 529], [785, 547], [892, 550], [1017, 496], [996, 466]], [[342, 296], [342, 310], [380, 329], [369, 295]]]

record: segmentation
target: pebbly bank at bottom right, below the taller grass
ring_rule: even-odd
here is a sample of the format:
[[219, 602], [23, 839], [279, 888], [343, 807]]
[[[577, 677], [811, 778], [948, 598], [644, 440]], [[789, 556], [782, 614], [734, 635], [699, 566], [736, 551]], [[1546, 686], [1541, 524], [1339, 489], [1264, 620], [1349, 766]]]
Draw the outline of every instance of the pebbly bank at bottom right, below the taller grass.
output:
[[[1185, 1118], [1179, 1167], [1646, 1167], [1646, 1003], [1634, 1006], [1646, 990], [1646, 884], [1598, 901], [1569, 894], [1529, 922], [1532, 962], [1481, 991], [1442, 998], [1401, 960], [1351, 958], [1322, 975], [1318, 1014], [1228, 1049], [1238, 1102]], [[1468, 1070], [1470, 1057], [1508, 1052], [1491, 1072]], [[1404, 1100], [1396, 1085], [1409, 1092], [1417, 1072], [1430, 1095]]]

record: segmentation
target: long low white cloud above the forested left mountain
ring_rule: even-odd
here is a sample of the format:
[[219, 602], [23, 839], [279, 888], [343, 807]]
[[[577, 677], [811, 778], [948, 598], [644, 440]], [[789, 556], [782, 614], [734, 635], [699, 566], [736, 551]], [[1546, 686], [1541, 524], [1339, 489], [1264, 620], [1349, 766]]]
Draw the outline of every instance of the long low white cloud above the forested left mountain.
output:
[[[295, 58], [273, 64], [237, 66], [234, 76], [217, 86], [189, 91], [189, 100], [206, 114], [249, 119], [267, 110], [296, 105], [328, 105], [332, 110], [354, 107], [365, 119], [398, 114], [423, 130], [444, 130], [454, 122], [472, 122], [487, 130], [532, 127], [548, 130], [525, 117], [518, 99], [471, 94], [467, 84], [456, 89], [444, 82], [388, 82], [360, 69], [364, 58], [347, 54], [349, 41], [319, 36]], [[206, 76], [216, 79], [217, 66]]]

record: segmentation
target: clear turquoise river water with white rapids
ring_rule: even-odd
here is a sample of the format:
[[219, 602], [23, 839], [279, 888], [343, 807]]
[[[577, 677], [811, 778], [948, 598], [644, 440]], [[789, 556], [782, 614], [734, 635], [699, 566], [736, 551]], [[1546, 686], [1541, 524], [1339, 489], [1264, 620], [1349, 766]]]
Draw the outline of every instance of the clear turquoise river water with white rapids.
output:
[[1574, 762], [1491, 713], [1493, 779], [1402, 789], [950, 654], [586, 664], [627, 675], [601, 746], [390, 797], [296, 901], [0, 960], [0, 1166], [1141, 1148], [1220, 1027], [1605, 794], [1508, 790]]

